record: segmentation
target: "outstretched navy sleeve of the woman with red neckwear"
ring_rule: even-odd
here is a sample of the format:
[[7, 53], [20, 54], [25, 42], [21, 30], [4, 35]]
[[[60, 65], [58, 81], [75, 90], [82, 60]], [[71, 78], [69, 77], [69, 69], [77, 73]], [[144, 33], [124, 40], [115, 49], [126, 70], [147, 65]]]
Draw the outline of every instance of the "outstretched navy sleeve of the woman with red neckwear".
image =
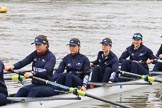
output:
[[28, 64], [30, 64], [33, 61], [33, 54], [35, 53], [32, 52], [31, 54], [29, 54], [27, 57], [25, 57], [23, 60], [17, 62], [14, 64], [14, 69], [20, 69]]

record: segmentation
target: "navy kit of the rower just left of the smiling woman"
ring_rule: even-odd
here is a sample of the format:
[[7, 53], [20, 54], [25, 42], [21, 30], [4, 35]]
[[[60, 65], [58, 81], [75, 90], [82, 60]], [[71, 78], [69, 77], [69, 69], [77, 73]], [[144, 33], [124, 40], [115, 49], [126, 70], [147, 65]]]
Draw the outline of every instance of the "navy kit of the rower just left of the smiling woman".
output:
[[119, 62], [112, 51], [106, 56], [103, 51], [99, 51], [97, 59], [92, 63], [94, 64], [91, 77], [92, 82], [116, 82], [118, 80]]

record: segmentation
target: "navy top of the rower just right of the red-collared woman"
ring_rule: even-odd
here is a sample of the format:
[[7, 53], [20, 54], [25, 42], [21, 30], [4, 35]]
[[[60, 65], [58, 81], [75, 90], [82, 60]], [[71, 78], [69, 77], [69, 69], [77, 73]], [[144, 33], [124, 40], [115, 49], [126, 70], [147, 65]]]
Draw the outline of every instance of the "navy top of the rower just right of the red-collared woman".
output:
[[56, 73], [63, 73], [65, 69], [67, 73], [77, 74], [77, 72], [81, 72], [82, 76], [80, 77], [83, 79], [85, 75], [90, 74], [89, 59], [80, 53], [76, 55], [68, 54], [62, 59]]

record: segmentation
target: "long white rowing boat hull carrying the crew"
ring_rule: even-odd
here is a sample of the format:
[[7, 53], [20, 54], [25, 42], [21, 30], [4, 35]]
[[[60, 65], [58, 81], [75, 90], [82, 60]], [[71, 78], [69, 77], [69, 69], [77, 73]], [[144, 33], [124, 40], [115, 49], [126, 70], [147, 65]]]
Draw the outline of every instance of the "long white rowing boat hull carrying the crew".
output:
[[[158, 75], [159, 76], [159, 75]], [[136, 80], [136, 81], [130, 81], [130, 82], [136, 82], [136, 83], [143, 83], [143, 80]], [[157, 84], [156, 82], [153, 83]], [[113, 87], [97, 87], [97, 88], [93, 88], [93, 89], [88, 89], [86, 91], [86, 93], [97, 96], [97, 97], [104, 97], [104, 96], [109, 96], [109, 95], [113, 95], [113, 94], [119, 94], [121, 92], [124, 91], [129, 91], [129, 90], [133, 90], [133, 89], [138, 89], [138, 88], [142, 88], [142, 87], [146, 87], [149, 85], [121, 85], [121, 86], [113, 86]], [[90, 100], [92, 98], [89, 97], [81, 97], [81, 100], [74, 100], [74, 99], [69, 99], [69, 100], [63, 100], [63, 99], [56, 99], [56, 98], [67, 98], [69, 99], [69, 97], [75, 97], [74, 94], [72, 93], [68, 93], [68, 94], [62, 94], [59, 96], [52, 96], [52, 97], [47, 97], [46, 99], [42, 99], [41, 98], [37, 98], [38, 101], [34, 101], [31, 99], [31, 101], [28, 102], [18, 102], [18, 103], [13, 103], [13, 104], [8, 104], [6, 106], [2, 106], [1, 108], [33, 108], [33, 107], [37, 107], [37, 108], [54, 108], [54, 107], [60, 107], [60, 106], [65, 106], [65, 105], [70, 105], [73, 103], [79, 103], [79, 102], [83, 102], [83, 101], [87, 101]], [[50, 98], [50, 99], [49, 99]], [[52, 99], [53, 98], [53, 99]], [[26, 97], [24, 97], [24, 99], [26, 99]], [[30, 99], [28, 99], [30, 100]]]

